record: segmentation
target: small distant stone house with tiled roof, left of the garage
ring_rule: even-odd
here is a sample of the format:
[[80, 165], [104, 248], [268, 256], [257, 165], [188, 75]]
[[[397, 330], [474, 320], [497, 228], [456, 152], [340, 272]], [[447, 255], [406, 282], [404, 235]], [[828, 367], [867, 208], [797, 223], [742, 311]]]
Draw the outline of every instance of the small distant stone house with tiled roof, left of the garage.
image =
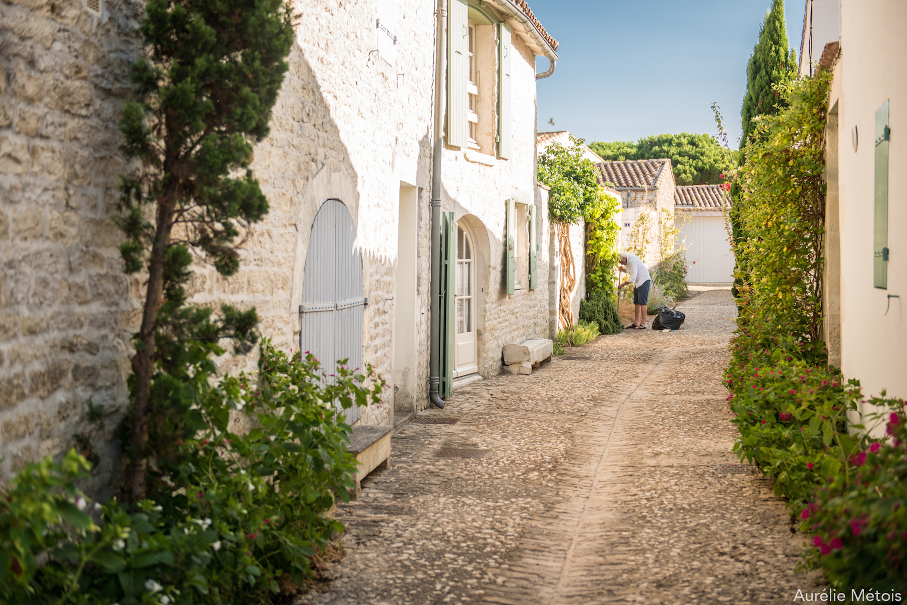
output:
[[644, 236], [642, 239], [649, 242], [645, 245], [642, 258], [647, 265], [654, 265], [660, 258], [659, 243], [663, 235], [663, 223], [672, 220], [674, 214], [676, 185], [671, 161], [601, 161], [598, 167], [599, 182], [610, 185], [620, 196], [623, 208], [620, 216], [620, 249], [628, 250], [634, 246], [634, 225], [640, 217], [646, 216], [637, 229]]

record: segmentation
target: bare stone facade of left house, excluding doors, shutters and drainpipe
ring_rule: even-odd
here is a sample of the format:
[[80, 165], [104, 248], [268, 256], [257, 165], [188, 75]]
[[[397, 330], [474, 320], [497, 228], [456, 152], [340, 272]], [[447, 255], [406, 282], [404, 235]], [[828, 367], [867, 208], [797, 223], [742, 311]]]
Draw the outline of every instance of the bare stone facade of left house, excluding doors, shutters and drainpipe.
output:
[[[488, 5], [506, 18], [493, 2]], [[141, 288], [138, 279], [122, 274], [120, 234], [109, 217], [123, 170], [116, 124], [131, 90], [127, 74], [138, 53], [141, 6], [105, 1], [100, 17], [79, 0], [0, 6], [5, 478], [25, 461], [73, 444], [72, 434], [85, 429], [88, 400], [114, 413], [95, 446], [106, 461], [100, 476], [115, 470], [110, 429], [127, 403]], [[270, 136], [256, 147], [253, 162], [271, 210], [254, 226], [235, 276], [195, 268], [192, 301], [254, 306], [262, 334], [284, 350], [295, 349], [312, 224], [326, 200], [342, 201], [356, 224], [369, 300], [363, 360], [388, 381], [383, 404], [368, 408], [360, 422], [390, 424], [395, 407], [428, 405], [435, 6], [395, 2], [393, 65], [375, 50], [375, 3], [298, 0], [294, 8], [297, 44]], [[535, 182], [540, 51], [512, 24], [511, 159], [496, 158], [487, 145], [443, 151], [443, 210], [453, 211], [477, 242], [482, 376], [500, 373], [503, 345], [551, 332], [547, 198]], [[486, 45], [493, 77], [496, 54], [493, 44]], [[483, 111], [496, 119], [494, 103], [487, 101]], [[540, 287], [530, 290], [523, 279], [512, 295], [502, 282], [507, 199], [523, 210], [535, 207], [542, 251]], [[519, 259], [518, 271], [527, 263]], [[411, 288], [398, 275], [404, 266], [412, 269]], [[225, 356], [219, 363], [236, 372], [254, 361], [254, 355]]]

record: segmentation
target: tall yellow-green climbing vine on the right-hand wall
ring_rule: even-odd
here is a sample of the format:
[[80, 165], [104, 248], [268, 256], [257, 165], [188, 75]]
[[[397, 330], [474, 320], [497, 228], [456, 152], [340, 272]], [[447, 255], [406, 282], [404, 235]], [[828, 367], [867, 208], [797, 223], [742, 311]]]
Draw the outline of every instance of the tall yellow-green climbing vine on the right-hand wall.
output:
[[[824, 129], [831, 73], [785, 86], [788, 106], [764, 117], [737, 173], [745, 234], [734, 242], [743, 280], [737, 304], [808, 342], [821, 337], [824, 245]], [[780, 329], [780, 328], [779, 328]]]

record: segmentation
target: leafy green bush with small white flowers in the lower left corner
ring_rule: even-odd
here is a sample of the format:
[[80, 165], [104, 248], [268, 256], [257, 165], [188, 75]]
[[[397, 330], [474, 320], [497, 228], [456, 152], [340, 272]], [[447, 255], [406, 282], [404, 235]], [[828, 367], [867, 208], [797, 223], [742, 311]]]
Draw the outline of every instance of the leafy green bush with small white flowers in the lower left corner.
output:
[[[377, 401], [383, 381], [370, 368], [325, 376], [268, 341], [256, 375], [213, 385], [209, 364], [193, 367], [201, 428], [173, 444], [180, 464], [151, 483], [151, 500], [88, 506], [73, 482], [89, 464], [74, 451], [15, 477], [0, 500], [5, 602], [270, 603], [282, 576], [302, 584], [308, 558], [343, 530], [324, 513], [354, 487], [333, 402]], [[231, 432], [243, 415], [254, 428]]]

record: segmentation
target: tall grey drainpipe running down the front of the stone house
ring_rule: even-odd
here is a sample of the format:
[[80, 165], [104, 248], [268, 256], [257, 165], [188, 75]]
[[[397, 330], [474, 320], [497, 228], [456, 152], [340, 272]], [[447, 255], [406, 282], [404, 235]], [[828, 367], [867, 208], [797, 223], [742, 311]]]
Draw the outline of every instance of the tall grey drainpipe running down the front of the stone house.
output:
[[438, 0], [434, 57], [434, 155], [432, 156], [432, 287], [429, 300], [432, 313], [432, 336], [429, 344], [428, 398], [444, 407], [439, 395], [441, 386], [441, 154], [444, 151], [444, 67], [447, 54], [447, 0]]

